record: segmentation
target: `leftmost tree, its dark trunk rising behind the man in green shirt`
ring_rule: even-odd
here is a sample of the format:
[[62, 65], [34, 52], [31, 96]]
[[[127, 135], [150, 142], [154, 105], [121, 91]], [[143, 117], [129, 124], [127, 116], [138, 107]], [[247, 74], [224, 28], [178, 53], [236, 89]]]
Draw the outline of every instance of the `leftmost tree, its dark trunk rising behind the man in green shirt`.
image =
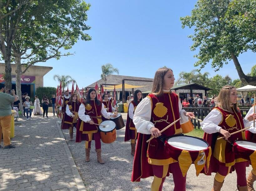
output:
[[24, 27], [20, 25], [28, 4], [37, 4], [33, 0], [8, 0], [0, 1], [0, 52], [5, 63], [5, 86], [12, 88], [11, 55], [12, 43], [17, 35], [17, 30]]

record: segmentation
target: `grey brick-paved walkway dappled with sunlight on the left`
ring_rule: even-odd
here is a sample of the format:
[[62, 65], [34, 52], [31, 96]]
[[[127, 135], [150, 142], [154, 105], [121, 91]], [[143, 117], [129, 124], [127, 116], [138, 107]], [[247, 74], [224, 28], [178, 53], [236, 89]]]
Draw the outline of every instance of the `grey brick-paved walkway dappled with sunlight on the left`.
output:
[[57, 121], [32, 116], [15, 127], [16, 148], [0, 149], [0, 191], [85, 190]]

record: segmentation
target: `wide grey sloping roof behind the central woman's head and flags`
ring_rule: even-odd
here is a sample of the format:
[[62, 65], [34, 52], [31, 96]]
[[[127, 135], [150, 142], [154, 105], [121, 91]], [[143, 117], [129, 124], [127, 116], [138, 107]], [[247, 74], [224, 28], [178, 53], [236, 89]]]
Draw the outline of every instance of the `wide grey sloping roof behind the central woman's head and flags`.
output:
[[[121, 76], [121, 75], [108, 75], [107, 76], [107, 84], [115, 84], [115, 85], [119, 85], [122, 84], [122, 80], [123, 79], [131, 79], [131, 80], [151, 80], [153, 81], [153, 78], [145, 78], [145, 77], [133, 77], [133, 76]], [[100, 86], [100, 84], [105, 84], [103, 79], [100, 79], [97, 81], [98, 82], [98, 86]], [[153, 82], [137, 82], [137, 81], [125, 81], [124, 83], [126, 84], [130, 84], [130, 85], [134, 85], [134, 86], [145, 86], [145, 87], [139, 87], [139, 88], [134, 88], [134, 91], [136, 89], [139, 89], [140, 91], [150, 91], [152, 90], [152, 85]], [[88, 85], [87, 87], [95, 87], [96, 82], [94, 82], [93, 84]], [[116, 91], [122, 91], [122, 89], [116, 89]], [[132, 91], [132, 89], [125, 89], [125, 91]]]

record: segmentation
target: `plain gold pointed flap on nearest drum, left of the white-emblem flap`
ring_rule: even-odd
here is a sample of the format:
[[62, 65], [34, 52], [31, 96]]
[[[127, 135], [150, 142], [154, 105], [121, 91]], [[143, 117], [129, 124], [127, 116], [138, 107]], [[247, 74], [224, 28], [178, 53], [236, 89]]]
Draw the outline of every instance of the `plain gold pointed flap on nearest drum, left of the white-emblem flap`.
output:
[[182, 175], [183, 177], [185, 177], [190, 165], [192, 164], [192, 159], [189, 154], [189, 151], [183, 150], [178, 157], [178, 162], [179, 162], [179, 167], [182, 172]]

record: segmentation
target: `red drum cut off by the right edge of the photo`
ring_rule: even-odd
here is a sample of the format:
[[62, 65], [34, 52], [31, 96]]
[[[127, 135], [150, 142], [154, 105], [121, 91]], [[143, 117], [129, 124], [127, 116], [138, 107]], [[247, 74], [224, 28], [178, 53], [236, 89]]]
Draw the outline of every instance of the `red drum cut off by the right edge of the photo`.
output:
[[256, 170], [256, 143], [250, 141], [233, 142], [233, 152], [239, 158], [251, 161], [253, 170]]

